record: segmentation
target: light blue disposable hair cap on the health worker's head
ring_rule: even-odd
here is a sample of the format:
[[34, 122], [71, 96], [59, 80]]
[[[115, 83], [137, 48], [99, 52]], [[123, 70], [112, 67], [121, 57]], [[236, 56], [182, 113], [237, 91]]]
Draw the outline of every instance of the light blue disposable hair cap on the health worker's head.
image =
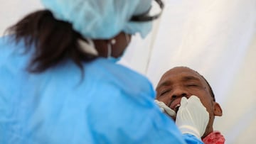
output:
[[134, 15], [149, 11], [152, 0], [41, 0], [55, 18], [72, 23], [84, 38], [109, 39], [124, 31], [144, 38], [151, 22], [129, 21]]

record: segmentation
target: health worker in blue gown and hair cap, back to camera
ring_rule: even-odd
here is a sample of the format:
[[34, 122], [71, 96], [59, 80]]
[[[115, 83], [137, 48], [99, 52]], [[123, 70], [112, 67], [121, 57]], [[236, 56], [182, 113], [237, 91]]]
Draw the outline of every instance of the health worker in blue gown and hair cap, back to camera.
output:
[[181, 133], [149, 80], [115, 63], [151, 31], [151, 0], [41, 1], [0, 40], [0, 143], [202, 143], [200, 100], [181, 106]]

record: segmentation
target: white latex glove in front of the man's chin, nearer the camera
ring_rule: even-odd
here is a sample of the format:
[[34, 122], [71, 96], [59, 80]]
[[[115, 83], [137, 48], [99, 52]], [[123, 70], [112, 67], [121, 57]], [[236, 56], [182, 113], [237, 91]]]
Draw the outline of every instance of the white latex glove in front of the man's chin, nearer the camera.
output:
[[209, 113], [197, 96], [181, 98], [181, 106], [176, 114], [176, 125], [181, 133], [189, 133], [201, 139], [208, 121]]

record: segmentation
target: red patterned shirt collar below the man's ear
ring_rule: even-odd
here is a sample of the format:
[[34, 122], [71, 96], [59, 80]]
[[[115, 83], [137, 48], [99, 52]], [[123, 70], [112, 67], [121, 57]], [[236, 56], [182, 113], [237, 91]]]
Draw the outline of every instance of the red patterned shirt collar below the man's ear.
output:
[[219, 131], [213, 131], [208, 134], [206, 138], [203, 138], [205, 144], [224, 144], [225, 138]]

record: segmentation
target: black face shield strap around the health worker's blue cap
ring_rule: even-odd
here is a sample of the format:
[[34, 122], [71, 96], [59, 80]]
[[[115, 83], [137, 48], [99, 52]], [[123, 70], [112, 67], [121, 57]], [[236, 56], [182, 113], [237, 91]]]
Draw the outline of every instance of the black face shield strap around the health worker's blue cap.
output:
[[163, 12], [164, 3], [161, 0], [154, 0], [154, 1], [156, 1], [156, 4], [158, 4], [159, 8], [161, 9], [161, 11], [159, 13], [157, 13], [154, 16], [149, 16], [149, 12], [150, 12], [150, 10], [152, 8], [152, 6], [151, 6], [149, 11], [146, 11], [146, 13], [139, 14], [137, 16], [132, 16], [130, 21], [132, 21], [132, 22], [147, 22], [147, 21], [153, 21], [153, 20], [159, 18], [159, 16], [161, 16], [161, 13]]

